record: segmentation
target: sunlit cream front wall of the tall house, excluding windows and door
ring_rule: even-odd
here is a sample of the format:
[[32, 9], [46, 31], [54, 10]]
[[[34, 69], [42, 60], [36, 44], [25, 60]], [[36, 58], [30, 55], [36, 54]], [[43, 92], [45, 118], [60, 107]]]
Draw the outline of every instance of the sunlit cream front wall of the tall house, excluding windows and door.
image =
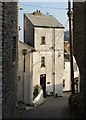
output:
[[[33, 86], [40, 84], [40, 74], [46, 74], [46, 86], [48, 92], [53, 92], [52, 80], [52, 41], [53, 28], [34, 29], [35, 50], [33, 53]], [[41, 45], [41, 36], [45, 36], [46, 45]], [[62, 80], [64, 66], [64, 30], [55, 29], [55, 93], [62, 95]], [[41, 57], [45, 57], [45, 68], [41, 68]], [[47, 84], [50, 82], [50, 84]]]

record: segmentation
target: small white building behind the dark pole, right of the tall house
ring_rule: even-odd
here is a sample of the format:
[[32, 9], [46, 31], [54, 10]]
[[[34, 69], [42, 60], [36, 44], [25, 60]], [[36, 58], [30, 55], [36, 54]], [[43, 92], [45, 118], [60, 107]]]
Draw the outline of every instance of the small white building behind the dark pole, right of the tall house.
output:
[[[68, 53], [66, 53], [66, 55], [68, 55]], [[75, 83], [75, 80], [77, 79], [78, 87], [79, 87], [79, 68], [77, 66], [77, 63], [74, 57], [73, 57], [73, 69], [74, 69], [74, 83]], [[71, 68], [70, 68], [70, 60], [67, 58], [64, 58], [63, 91], [71, 91]]]

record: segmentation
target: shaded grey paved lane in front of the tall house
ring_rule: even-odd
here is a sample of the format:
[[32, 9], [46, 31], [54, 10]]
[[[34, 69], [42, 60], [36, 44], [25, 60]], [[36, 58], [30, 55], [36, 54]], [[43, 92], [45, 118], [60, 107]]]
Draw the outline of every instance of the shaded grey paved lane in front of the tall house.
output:
[[72, 118], [68, 96], [51, 97], [45, 103], [35, 107], [30, 111], [26, 111], [25, 118]]

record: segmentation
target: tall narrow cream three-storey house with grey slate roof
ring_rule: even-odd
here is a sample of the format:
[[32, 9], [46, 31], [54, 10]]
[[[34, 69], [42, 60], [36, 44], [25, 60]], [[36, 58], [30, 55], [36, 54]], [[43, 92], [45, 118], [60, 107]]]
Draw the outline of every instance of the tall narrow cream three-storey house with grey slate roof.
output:
[[40, 11], [24, 14], [24, 42], [34, 47], [33, 86], [44, 94], [62, 96], [64, 27], [52, 15]]

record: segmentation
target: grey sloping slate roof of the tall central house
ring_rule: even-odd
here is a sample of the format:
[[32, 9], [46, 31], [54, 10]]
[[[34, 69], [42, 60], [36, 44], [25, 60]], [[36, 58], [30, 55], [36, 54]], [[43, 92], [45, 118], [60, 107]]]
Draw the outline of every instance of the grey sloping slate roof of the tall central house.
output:
[[52, 15], [33, 15], [32, 13], [26, 13], [25, 16], [30, 20], [30, 22], [34, 26], [64, 28], [64, 26]]

